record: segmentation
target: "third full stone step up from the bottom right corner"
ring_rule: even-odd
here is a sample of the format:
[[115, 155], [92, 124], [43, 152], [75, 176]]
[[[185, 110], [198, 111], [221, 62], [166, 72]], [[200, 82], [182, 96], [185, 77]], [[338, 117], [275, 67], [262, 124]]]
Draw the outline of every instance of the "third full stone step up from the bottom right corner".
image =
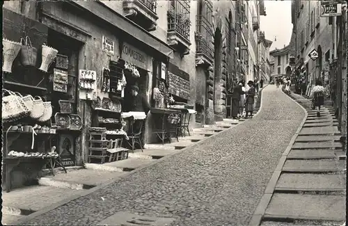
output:
[[333, 160], [287, 160], [283, 172], [339, 172], [340, 168]]

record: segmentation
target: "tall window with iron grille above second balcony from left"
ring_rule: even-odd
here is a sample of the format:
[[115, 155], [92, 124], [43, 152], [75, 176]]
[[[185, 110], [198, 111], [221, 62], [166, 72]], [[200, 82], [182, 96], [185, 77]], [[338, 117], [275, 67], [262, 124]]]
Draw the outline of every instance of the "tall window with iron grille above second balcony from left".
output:
[[182, 38], [190, 38], [190, 1], [171, 1], [171, 8], [168, 10], [168, 31], [175, 31]]

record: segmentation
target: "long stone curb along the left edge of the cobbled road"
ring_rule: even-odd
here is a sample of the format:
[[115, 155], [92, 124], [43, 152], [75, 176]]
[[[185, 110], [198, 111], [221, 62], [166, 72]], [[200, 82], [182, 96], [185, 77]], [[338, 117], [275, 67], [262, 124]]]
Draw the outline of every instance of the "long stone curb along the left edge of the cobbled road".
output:
[[[266, 88], [267, 86], [268, 86], [268, 84], [267, 84], [266, 86], [264, 86], [264, 87], [262, 88], [262, 90], [260, 90], [259, 93], [261, 93], [261, 92], [264, 90], [264, 88]], [[259, 95], [260, 95], [260, 94], [259, 94]], [[262, 108], [262, 95], [261, 95], [261, 99], [260, 99], [260, 108], [259, 108], [259, 111], [258, 111], [255, 115], [253, 115], [253, 117], [255, 117], [256, 115], [258, 115], [258, 113], [260, 113], [261, 108]], [[242, 123], [244, 123], [244, 122], [246, 122], [246, 120], [244, 120], [244, 121], [242, 121], [242, 122], [239, 122], [239, 123], [236, 125], [236, 127], [237, 127], [239, 124], [242, 124]], [[67, 204], [68, 202], [71, 202], [71, 201], [73, 201], [73, 200], [77, 200], [79, 197], [84, 197], [84, 196], [86, 196], [86, 195], [89, 195], [90, 193], [93, 193], [93, 192], [95, 192], [95, 191], [98, 191], [100, 188], [104, 188], [104, 187], [106, 187], [106, 186], [109, 186], [110, 184], [113, 184], [113, 183], [115, 183], [116, 181], [120, 181], [121, 179], [123, 179], [123, 178], [125, 178], [125, 177], [128, 177], [129, 175], [132, 175], [132, 174], [134, 174], [134, 173], [136, 173], [136, 172], [139, 172], [139, 171], [141, 171], [141, 170], [143, 170], [143, 169], [145, 169], [145, 168], [148, 168], [148, 167], [150, 167], [150, 166], [154, 166], [155, 164], [157, 164], [157, 163], [159, 163], [159, 162], [161, 162], [161, 161], [164, 161], [164, 160], [170, 158], [171, 156], [173, 156], [173, 155], [175, 155], [175, 154], [179, 154], [179, 153], [181, 153], [181, 152], [184, 152], [184, 151], [186, 151], [186, 150], [189, 150], [191, 147], [194, 147], [194, 146], [196, 146], [196, 145], [199, 145], [200, 143], [205, 142], [206, 140], [209, 140], [209, 139], [211, 139], [211, 138], [214, 138], [214, 137], [216, 137], [216, 136], [219, 136], [219, 135], [221, 135], [221, 133], [225, 133], [226, 131], [229, 131], [230, 129], [233, 129], [233, 128], [235, 128], [235, 127], [230, 127], [230, 128], [228, 128], [228, 129], [224, 129], [223, 131], [220, 131], [219, 133], [216, 133], [216, 134], [214, 134], [214, 135], [212, 135], [212, 136], [208, 136], [207, 138], [205, 138], [205, 139], [203, 139], [203, 140], [199, 140], [198, 142], [195, 142], [195, 143], [193, 143], [192, 145], [189, 145], [189, 146], [187, 146], [187, 147], [184, 147], [183, 149], [178, 150], [178, 152], [174, 152], [174, 153], [172, 153], [172, 154], [168, 154], [167, 156], [162, 157], [161, 159], [157, 159], [157, 161], [154, 161], [154, 163], [150, 163], [150, 164], [148, 164], [148, 165], [146, 165], [146, 166], [143, 166], [143, 167], [140, 167], [140, 168], [136, 168], [135, 170], [132, 170], [131, 172], [128, 172], [128, 173], [125, 174], [125, 175], [121, 175], [120, 177], [118, 177], [118, 178], [116, 178], [116, 179], [113, 179], [112, 181], [108, 181], [108, 182], [106, 182], [105, 184], [101, 184], [101, 185], [99, 185], [99, 186], [95, 186], [94, 188], [90, 188], [90, 189], [88, 189], [88, 190], [86, 190], [86, 191], [83, 191], [83, 192], [80, 193], [80, 194], [74, 195], [74, 196], [72, 196], [72, 197], [68, 197], [67, 199], [62, 200], [61, 202], [56, 202], [56, 203], [50, 205], [49, 207], [46, 207], [45, 209], [41, 209], [41, 210], [39, 210], [39, 211], [35, 211], [35, 213], [31, 213], [29, 216], [23, 216], [21, 219], [17, 220], [17, 222], [13, 223], [13, 225], [23, 225], [23, 224], [24, 224], [26, 221], [28, 221], [28, 220], [32, 220], [33, 218], [36, 218], [36, 217], [38, 217], [38, 216], [40, 216], [40, 215], [42, 215], [42, 214], [45, 214], [45, 213], [47, 213], [47, 212], [49, 212], [49, 211], [52, 211], [52, 210], [54, 210], [54, 209], [56, 209], [56, 208], [58, 208], [58, 207], [61, 207], [61, 206], [63, 206], [64, 204]]]

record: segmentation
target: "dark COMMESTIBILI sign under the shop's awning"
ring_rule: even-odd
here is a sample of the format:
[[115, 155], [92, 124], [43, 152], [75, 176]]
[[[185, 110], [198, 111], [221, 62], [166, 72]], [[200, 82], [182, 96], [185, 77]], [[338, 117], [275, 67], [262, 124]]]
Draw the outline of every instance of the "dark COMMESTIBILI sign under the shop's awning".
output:
[[122, 59], [145, 70], [148, 68], [148, 56], [127, 43], [123, 44]]

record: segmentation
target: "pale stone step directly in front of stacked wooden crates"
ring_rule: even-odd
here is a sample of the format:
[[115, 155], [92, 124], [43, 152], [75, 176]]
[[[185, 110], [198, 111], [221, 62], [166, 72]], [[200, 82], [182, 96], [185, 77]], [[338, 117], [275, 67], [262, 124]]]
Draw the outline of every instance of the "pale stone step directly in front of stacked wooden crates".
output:
[[104, 170], [113, 172], [132, 171], [136, 168], [141, 168], [152, 164], [155, 159], [138, 159], [129, 158], [121, 161], [113, 161], [111, 163], [96, 164], [86, 163], [86, 168], [93, 170]]

